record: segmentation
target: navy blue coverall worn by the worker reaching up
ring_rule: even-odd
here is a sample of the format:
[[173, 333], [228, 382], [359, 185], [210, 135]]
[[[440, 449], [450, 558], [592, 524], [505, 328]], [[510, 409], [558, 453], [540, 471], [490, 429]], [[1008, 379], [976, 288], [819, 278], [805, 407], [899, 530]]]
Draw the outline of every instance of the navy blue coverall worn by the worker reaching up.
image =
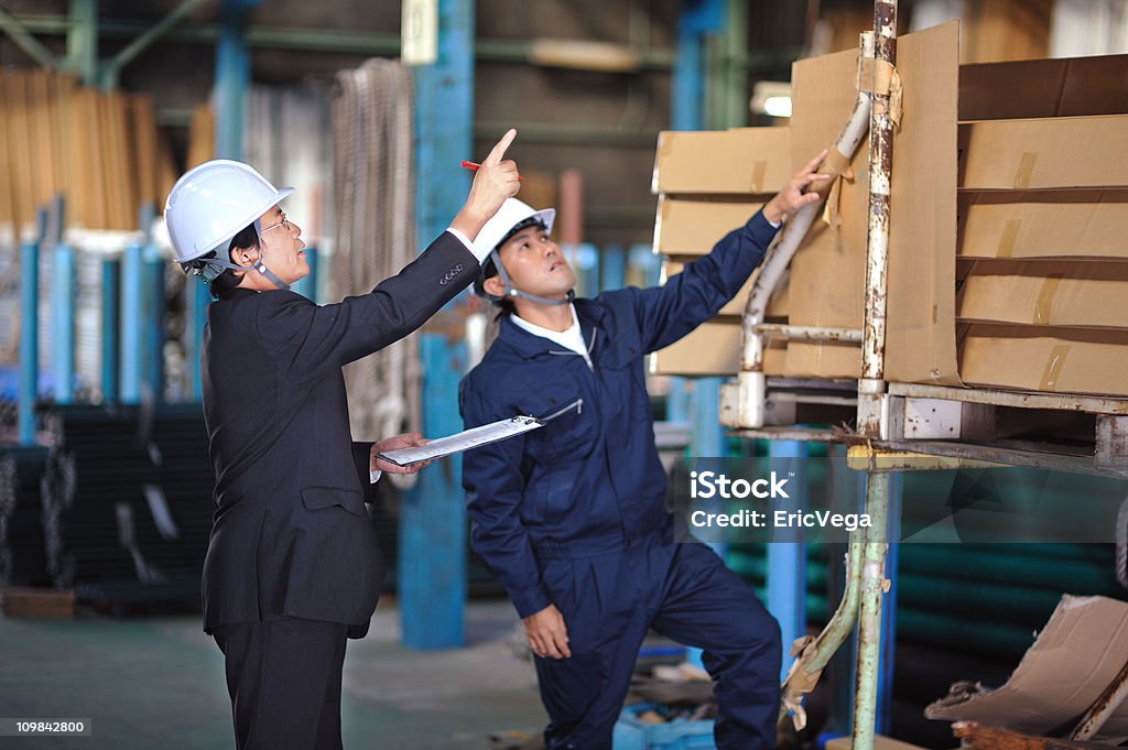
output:
[[664, 286], [575, 300], [591, 368], [504, 316], [462, 380], [467, 427], [575, 405], [462, 461], [474, 550], [522, 618], [555, 605], [567, 627], [572, 655], [536, 659], [550, 750], [611, 747], [651, 627], [704, 651], [717, 748], [775, 747], [779, 627], [708, 547], [675, 544], [643, 370], [735, 295], [775, 231], [757, 213]]

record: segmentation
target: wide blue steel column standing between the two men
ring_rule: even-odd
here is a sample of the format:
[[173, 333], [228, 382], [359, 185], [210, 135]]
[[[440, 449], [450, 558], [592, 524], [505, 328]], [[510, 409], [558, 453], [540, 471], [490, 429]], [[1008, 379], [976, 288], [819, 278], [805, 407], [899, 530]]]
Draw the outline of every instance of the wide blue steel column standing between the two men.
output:
[[[473, 147], [473, 0], [439, 0], [438, 33], [437, 62], [413, 69], [415, 213], [421, 245], [448, 227], [469, 191], [469, 175], [459, 161], [472, 158]], [[461, 429], [457, 396], [466, 343], [421, 333], [420, 348], [424, 433], [457, 432]], [[450, 648], [462, 645], [465, 639], [466, 509], [459, 482], [461, 460], [443, 459], [418, 476], [418, 484], [400, 506], [397, 571], [403, 641], [412, 648]]]

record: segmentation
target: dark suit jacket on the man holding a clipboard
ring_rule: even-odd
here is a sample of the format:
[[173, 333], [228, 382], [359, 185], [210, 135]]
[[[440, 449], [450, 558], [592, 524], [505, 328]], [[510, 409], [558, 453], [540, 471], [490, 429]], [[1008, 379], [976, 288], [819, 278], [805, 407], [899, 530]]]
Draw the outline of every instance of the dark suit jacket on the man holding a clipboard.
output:
[[201, 381], [215, 513], [204, 630], [279, 617], [368, 630], [384, 582], [364, 508], [371, 443], [352, 441], [341, 368], [418, 328], [478, 268], [443, 232], [337, 305], [237, 289], [209, 307]]

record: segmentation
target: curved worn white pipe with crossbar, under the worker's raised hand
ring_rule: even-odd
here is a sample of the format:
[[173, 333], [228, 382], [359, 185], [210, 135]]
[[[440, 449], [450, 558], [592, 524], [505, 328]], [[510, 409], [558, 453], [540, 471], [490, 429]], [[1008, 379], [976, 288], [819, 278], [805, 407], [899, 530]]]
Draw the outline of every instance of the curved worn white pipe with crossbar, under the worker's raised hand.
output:
[[[863, 58], [873, 58], [873, 32], [862, 33], [860, 47]], [[831, 175], [830, 179], [812, 185], [812, 188], [823, 200], [830, 193], [834, 180], [849, 168], [854, 152], [869, 131], [871, 104], [872, 95], [869, 91], [858, 90], [857, 102], [849, 120], [831, 147], [823, 165], [819, 167], [819, 171]], [[816, 217], [822, 211], [822, 206], [823, 201], [820, 201], [797, 211], [784, 226], [783, 231], [768, 248], [767, 255], [760, 264], [760, 273], [748, 295], [748, 303], [741, 320], [740, 373], [737, 376], [735, 385], [728, 383], [722, 387], [722, 423], [726, 426], [749, 429], [764, 426], [764, 398], [767, 390], [764, 376], [764, 342], [767, 338], [764, 319], [768, 300], [787, 271], [795, 250], [799, 249], [811, 224], [814, 223]], [[861, 342], [862, 336], [861, 330], [801, 329], [793, 326], [772, 326], [772, 333], [785, 337], [794, 335], [794, 337], [802, 337], [807, 341], [852, 341], [856, 336], [856, 341]], [[733, 411], [735, 414], [732, 413]]]

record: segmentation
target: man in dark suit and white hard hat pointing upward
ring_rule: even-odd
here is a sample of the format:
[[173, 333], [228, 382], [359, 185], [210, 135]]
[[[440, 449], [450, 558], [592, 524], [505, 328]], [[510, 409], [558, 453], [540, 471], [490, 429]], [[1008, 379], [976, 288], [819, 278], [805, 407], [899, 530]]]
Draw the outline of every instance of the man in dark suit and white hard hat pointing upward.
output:
[[364, 508], [377, 458], [418, 434], [356, 443], [341, 368], [406, 336], [478, 274], [473, 241], [518, 191], [494, 147], [450, 229], [368, 294], [319, 307], [289, 291], [307, 273], [301, 229], [257, 171], [217, 160], [185, 174], [165, 221], [204, 279], [203, 408], [215, 515], [204, 630], [222, 650], [240, 750], [338, 750], [345, 642], [362, 637], [384, 568]]

